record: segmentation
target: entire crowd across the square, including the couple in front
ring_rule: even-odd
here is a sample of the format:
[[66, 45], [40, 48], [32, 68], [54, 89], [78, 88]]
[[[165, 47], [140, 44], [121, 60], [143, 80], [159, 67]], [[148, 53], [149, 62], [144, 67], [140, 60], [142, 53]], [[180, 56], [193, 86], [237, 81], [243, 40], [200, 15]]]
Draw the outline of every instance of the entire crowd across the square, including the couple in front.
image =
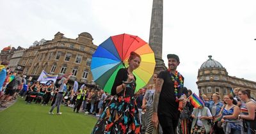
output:
[[76, 90], [67, 85], [68, 77], [49, 85], [27, 82], [25, 75], [7, 70], [4, 82], [0, 81], [1, 107], [6, 107], [6, 102], [17, 98], [17, 94], [28, 104], [51, 103], [49, 114], [54, 114], [55, 107], [56, 114], [62, 114], [63, 104], [75, 113], [97, 116], [92, 133], [256, 133], [256, 101], [249, 89], [237, 87], [234, 95], [225, 94], [223, 98], [220, 93], [211, 98], [200, 94], [204, 105], [195, 107], [187, 99], [193, 93], [184, 87], [184, 77], [177, 71], [179, 57], [168, 54], [167, 58], [168, 70], [155, 73], [153, 83], [137, 93], [133, 71], [140, 66], [141, 58], [135, 52], [131, 52], [129, 66], [118, 70], [110, 94], [84, 84]]

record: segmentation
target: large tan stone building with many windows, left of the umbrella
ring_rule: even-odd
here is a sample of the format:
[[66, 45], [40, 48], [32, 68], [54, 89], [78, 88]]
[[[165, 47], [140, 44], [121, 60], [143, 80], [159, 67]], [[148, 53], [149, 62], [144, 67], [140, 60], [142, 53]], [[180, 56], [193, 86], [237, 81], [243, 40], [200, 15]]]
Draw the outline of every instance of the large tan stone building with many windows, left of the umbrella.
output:
[[52, 75], [72, 73], [70, 80], [93, 83], [90, 64], [97, 46], [92, 35], [81, 33], [76, 39], [70, 39], [58, 32], [52, 40], [35, 41], [20, 61], [23, 73], [37, 78], [42, 70]]

